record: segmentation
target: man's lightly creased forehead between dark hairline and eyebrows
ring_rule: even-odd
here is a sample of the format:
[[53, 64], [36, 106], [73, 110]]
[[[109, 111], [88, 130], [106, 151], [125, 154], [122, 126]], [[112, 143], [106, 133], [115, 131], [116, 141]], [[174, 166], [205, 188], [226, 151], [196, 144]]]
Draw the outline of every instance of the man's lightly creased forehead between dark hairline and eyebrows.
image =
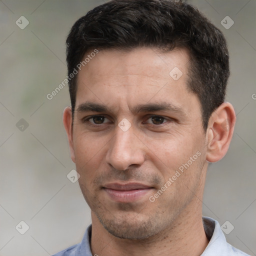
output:
[[134, 101], [166, 99], [181, 105], [190, 93], [186, 86], [188, 64], [188, 50], [180, 48], [167, 53], [145, 47], [101, 50], [77, 74], [76, 106], [96, 101], [132, 107]]

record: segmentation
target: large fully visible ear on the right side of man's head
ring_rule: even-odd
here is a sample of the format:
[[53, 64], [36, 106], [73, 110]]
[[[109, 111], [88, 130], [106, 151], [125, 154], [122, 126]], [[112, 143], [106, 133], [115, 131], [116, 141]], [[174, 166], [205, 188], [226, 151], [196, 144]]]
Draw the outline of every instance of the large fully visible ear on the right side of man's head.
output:
[[234, 108], [228, 102], [222, 103], [211, 114], [206, 131], [207, 161], [216, 162], [226, 154], [233, 135], [235, 119]]

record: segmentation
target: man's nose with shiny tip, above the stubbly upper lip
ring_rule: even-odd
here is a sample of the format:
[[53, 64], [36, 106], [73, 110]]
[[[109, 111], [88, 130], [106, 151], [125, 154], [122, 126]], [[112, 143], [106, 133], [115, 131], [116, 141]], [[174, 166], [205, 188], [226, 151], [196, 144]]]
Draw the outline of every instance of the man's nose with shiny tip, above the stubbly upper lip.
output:
[[142, 141], [134, 134], [132, 126], [126, 130], [115, 128], [115, 135], [109, 141], [106, 162], [117, 170], [126, 170], [130, 165], [144, 162]]

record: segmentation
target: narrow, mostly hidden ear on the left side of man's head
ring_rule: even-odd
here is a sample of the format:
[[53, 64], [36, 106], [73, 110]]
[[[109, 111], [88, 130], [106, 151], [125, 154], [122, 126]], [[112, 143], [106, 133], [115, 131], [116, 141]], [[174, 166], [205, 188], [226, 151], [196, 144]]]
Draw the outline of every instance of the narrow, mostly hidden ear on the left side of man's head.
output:
[[63, 124], [66, 130], [70, 155], [72, 161], [75, 163], [74, 146], [73, 146], [73, 132], [72, 132], [72, 110], [70, 106], [65, 107], [63, 111]]

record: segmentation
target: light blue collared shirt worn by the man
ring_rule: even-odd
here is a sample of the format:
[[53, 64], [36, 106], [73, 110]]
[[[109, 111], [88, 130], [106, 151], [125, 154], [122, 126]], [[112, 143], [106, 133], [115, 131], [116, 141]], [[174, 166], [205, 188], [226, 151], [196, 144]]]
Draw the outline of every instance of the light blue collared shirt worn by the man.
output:
[[[213, 218], [202, 217], [204, 231], [210, 241], [201, 256], [249, 256], [230, 245], [219, 223]], [[80, 243], [64, 249], [52, 256], [92, 256], [90, 250], [91, 225], [85, 231]]]

